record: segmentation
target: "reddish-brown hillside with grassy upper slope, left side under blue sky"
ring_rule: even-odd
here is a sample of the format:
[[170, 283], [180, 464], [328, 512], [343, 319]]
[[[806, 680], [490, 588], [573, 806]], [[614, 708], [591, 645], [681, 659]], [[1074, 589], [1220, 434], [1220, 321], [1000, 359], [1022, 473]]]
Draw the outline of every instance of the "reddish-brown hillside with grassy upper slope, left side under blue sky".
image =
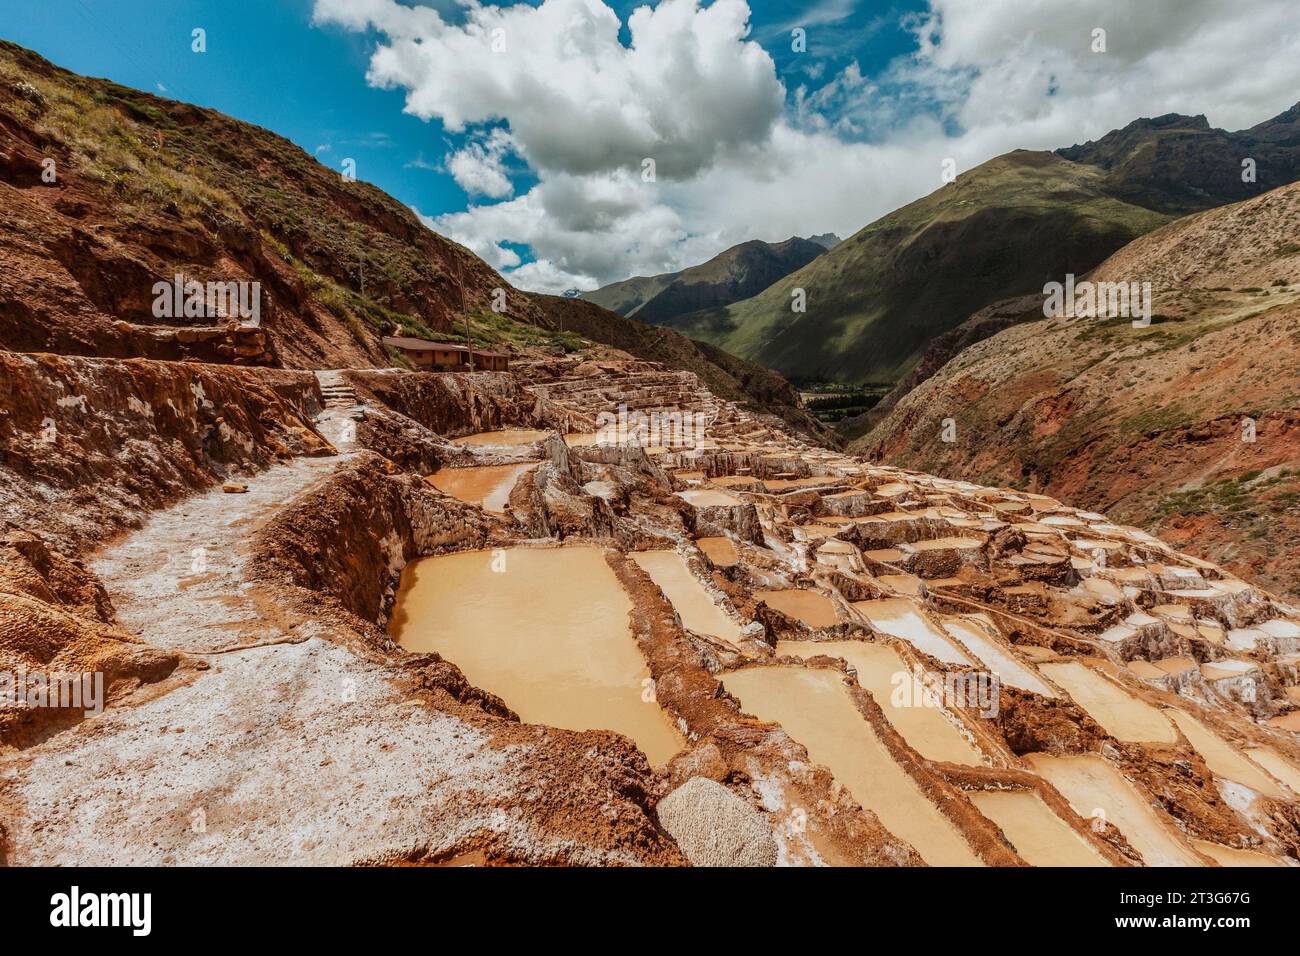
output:
[[[384, 332], [446, 332], [508, 287], [391, 196], [266, 130], [12, 44], [0, 142], [12, 349], [384, 365]], [[178, 273], [259, 282], [263, 334], [228, 339], [217, 315], [156, 315], [155, 282]]]

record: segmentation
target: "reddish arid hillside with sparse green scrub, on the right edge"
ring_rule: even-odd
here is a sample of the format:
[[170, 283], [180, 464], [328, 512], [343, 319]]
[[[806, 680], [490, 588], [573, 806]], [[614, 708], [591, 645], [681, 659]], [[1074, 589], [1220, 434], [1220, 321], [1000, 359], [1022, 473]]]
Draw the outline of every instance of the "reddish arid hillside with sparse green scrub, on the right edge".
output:
[[1017, 324], [854, 447], [1105, 510], [1300, 594], [1300, 187], [1179, 220], [1087, 278], [1150, 282], [1150, 326]]

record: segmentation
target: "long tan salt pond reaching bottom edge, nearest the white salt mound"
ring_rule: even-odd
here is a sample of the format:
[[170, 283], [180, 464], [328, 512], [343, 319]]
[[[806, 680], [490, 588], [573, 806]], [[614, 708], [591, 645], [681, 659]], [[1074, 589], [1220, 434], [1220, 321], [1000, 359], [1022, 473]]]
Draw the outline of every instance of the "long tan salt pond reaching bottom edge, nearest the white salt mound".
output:
[[775, 721], [828, 767], [884, 827], [907, 840], [932, 866], [980, 866], [957, 827], [939, 812], [853, 705], [829, 670], [749, 667], [723, 676], [741, 709]]

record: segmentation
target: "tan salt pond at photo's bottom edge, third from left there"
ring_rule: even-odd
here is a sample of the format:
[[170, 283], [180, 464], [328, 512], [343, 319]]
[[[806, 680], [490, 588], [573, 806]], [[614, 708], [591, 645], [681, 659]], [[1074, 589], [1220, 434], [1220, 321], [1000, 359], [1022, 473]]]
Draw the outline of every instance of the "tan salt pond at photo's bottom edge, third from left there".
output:
[[1148, 866], [1201, 866], [1143, 796], [1096, 754], [1052, 757], [1031, 753], [1026, 762], [1056, 787], [1084, 819], [1096, 814], [1117, 826]]

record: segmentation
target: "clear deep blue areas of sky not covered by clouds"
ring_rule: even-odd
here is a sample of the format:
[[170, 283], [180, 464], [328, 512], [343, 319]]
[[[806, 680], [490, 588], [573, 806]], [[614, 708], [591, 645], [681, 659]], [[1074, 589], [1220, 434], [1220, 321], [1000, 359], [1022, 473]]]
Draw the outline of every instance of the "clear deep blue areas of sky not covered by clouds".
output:
[[[625, 23], [644, 3], [610, 5]], [[853, 59], [884, 64], [915, 48], [897, 23], [923, 4], [754, 0], [750, 7], [754, 39], [793, 88], [807, 82], [806, 59], [790, 51], [788, 23], [844, 14], [818, 22], [809, 43], [822, 69], [833, 73]], [[207, 31], [202, 55], [191, 51], [195, 27]], [[621, 35], [627, 40], [625, 26]], [[359, 178], [428, 216], [463, 211], [471, 200], [442, 170], [465, 137], [447, 133], [437, 118], [403, 113], [402, 91], [368, 86], [377, 34], [313, 26], [312, 0], [0, 0], [0, 36], [77, 73], [265, 126], [328, 165], [352, 157]], [[519, 189], [532, 181], [521, 164], [512, 178]]]

